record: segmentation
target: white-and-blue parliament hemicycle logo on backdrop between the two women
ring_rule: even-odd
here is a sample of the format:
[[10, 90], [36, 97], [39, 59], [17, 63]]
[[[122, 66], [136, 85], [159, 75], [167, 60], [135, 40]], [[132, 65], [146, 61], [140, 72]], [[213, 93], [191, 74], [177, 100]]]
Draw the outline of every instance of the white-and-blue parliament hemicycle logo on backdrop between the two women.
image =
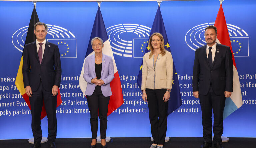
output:
[[143, 58], [151, 28], [139, 24], [118, 24], [106, 30], [113, 54]]

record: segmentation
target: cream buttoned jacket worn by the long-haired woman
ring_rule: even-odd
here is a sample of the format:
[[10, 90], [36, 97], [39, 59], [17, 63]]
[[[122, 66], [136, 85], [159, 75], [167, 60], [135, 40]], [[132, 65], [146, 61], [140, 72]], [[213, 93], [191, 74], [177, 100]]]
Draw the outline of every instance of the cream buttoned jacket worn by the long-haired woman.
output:
[[154, 68], [154, 56], [149, 59], [151, 52], [143, 56], [141, 90], [149, 89], [172, 89], [173, 60], [172, 54], [166, 51], [165, 55], [158, 55]]

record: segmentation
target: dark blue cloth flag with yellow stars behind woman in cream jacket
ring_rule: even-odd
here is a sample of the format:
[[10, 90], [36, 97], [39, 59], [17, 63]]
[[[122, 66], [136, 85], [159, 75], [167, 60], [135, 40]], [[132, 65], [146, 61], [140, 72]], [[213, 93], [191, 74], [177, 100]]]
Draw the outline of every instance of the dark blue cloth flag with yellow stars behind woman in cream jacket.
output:
[[[167, 51], [171, 52], [169, 41], [167, 39], [167, 35], [166, 35], [165, 27], [164, 27], [164, 21], [163, 21], [162, 14], [161, 14], [159, 6], [158, 6], [156, 16], [155, 16], [155, 19], [154, 19], [154, 22], [153, 22], [153, 25], [152, 25], [150, 36], [155, 32], [161, 33], [163, 35], [164, 42], [165, 42], [164, 43], [165, 44], [165, 49]], [[149, 49], [149, 46], [147, 44], [145, 53], [147, 53], [149, 51], [150, 51], [150, 49]], [[139, 72], [138, 79], [137, 79], [137, 83], [138, 83], [140, 88], [141, 88], [141, 73], [142, 73], [142, 63], [141, 63], [140, 72]], [[182, 104], [181, 96], [180, 96], [180, 87], [179, 87], [179, 81], [178, 81], [178, 74], [176, 72], [174, 62], [173, 62], [173, 77], [172, 77], [172, 79], [173, 79], [172, 90], [170, 92], [170, 99], [168, 101], [168, 103], [169, 103], [168, 104], [168, 115], [170, 113], [172, 113], [174, 110], [176, 110], [177, 108], [179, 108]]]

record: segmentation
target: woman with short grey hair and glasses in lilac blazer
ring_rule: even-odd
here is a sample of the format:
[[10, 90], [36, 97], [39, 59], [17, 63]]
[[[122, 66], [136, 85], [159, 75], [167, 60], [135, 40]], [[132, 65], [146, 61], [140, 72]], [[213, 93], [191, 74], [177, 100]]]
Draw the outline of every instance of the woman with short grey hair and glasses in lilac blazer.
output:
[[110, 82], [114, 78], [112, 57], [104, 55], [102, 39], [95, 37], [91, 41], [92, 54], [85, 59], [84, 79], [87, 81], [85, 95], [91, 115], [92, 142], [91, 148], [96, 147], [98, 131], [98, 115], [100, 118], [101, 147], [106, 147], [108, 102], [112, 95]]

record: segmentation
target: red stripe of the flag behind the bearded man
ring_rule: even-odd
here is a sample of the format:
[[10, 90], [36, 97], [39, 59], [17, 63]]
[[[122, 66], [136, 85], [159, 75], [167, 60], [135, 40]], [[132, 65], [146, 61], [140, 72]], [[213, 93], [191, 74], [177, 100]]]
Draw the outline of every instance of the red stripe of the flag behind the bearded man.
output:
[[217, 18], [216, 18], [214, 26], [217, 27], [217, 33], [218, 33], [217, 38], [220, 41], [220, 43], [222, 45], [226, 45], [226, 46], [230, 47], [230, 50], [232, 53], [233, 65], [236, 68], [236, 62], [235, 62], [235, 58], [233, 55], [233, 50], [232, 50], [232, 46], [231, 46], [231, 42], [230, 42], [230, 38], [229, 38], [229, 34], [228, 34], [228, 27], [227, 27], [226, 19], [225, 19], [224, 12], [222, 9], [222, 4], [220, 5], [220, 9], [217, 14]]

